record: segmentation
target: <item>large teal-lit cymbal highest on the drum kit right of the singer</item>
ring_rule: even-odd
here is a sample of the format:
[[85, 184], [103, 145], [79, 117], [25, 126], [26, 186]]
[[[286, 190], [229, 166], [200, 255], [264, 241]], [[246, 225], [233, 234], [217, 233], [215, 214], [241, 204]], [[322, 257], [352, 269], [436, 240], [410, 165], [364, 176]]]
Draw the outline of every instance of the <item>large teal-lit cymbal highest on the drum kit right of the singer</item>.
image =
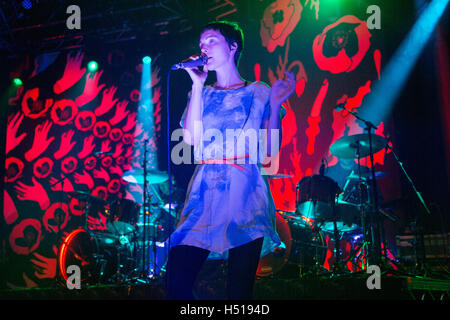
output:
[[[376, 153], [383, 149], [387, 144], [386, 138], [372, 134], [372, 151]], [[330, 153], [338, 158], [356, 159], [357, 149], [359, 145], [359, 154], [361, 158], [367, 157], [370, 154], [369, 135], [355, 134], [351, 136], [344, 136], [335, 141], [330, 146]]]

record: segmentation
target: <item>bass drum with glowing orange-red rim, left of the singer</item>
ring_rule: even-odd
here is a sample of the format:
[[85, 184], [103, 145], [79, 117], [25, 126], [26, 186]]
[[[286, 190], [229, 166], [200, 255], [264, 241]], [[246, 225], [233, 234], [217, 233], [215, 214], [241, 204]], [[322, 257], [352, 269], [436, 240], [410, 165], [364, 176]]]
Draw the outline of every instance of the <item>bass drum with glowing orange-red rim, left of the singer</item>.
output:
[[128, 238], [84, 229], [69, 233], [58, 252], [62, 279], [67, 281], [67, 269], [75, 265], [83, 285], [127, 280], [134, 272], [134, 260]]

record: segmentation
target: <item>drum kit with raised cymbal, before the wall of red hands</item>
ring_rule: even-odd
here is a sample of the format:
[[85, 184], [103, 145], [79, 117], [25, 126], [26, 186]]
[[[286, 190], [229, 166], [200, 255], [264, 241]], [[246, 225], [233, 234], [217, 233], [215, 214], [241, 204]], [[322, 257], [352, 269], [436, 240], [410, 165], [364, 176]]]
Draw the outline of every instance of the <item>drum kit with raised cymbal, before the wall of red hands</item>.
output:
[[168, 210], [156, 185], [166, 182], [168, 175], [148, 170], [144, 176], [142, 171], [133, 170], [122, 178], [129, 183], [148, 184], [151, 205], [145, 207], [129, 199], [105, 201], [83, 191], [67, 194], [78, 200], [84, 215], [81, 226], [61, 238], [61, 280], [67, 281], [71, 265], [80, 267], [81, 281], [87, 285], [146, 283], [163, 276], [168, 254], [164, 241], [169, 235], [168, 224], [175, 221], [168, 211], [174, 211], [176, 205]]

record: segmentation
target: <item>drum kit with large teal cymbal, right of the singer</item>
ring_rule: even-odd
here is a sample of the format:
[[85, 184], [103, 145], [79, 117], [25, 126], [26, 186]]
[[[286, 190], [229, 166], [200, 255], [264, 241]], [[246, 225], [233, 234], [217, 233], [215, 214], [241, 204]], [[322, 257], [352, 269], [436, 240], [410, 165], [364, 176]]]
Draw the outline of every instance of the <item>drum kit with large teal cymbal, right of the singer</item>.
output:
[[[387, 174], [373, 170], [363, 173], [360, 159], [382, 150], [387, 143], [387, 139], [378, 135], [357, 134], [344, 136], [331, 145], [330, 152], [338, 159], [352, 163], [358, 160], [357, 173], [353, 170], [347, 175], [341, 189], [336, 181], [324, 175], [322, 163], [319, 174], [300, 180], [296, 190], [296, 211], [277, 212], [277, 233], [284, 246], [260, 260], [258, 276], [283, 274], [286, 270], [293, 270], [299, 276], [337, 276], [362, 270], [365, 268], [363, 264], [379, 261], [380, 257], [375, 255], [379, 248], [375, 246], [381, 247], [378, 238], [380, 226], [379, 219], [374, 217], [373, 194], [376, 195], [376, 191], [373, 188], [376, 188], [376, 181], [372, 178], [383, 178]], [[325, 268], [330, 250], [327, 238], [334, 242], [331, 249], [334, 263]], [[353, 240], [357, 238], [360, 241]], [[352, 247], [351, 255], [346, 254], [345, 261], [342, 259], [342, 242]], [[350, 270], [349, 262], [358, 268]]]

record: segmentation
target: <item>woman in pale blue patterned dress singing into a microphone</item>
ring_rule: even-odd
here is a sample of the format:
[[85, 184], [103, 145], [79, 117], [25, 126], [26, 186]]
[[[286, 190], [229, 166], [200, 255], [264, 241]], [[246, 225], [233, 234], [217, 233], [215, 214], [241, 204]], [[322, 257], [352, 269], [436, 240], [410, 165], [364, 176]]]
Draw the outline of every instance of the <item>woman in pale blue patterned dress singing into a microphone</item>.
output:
[[[263, 133], [267, 142], [263, 158], [278, 153], [281, 104], [294, 91], [295, 77], [286, 73], [272, 88], [242, 79], [237, 66], [243, 41], [237, 24], [212, 22], [200, 34], [207, 63], [186, 69], [192, 90], [180, 123], [200, 161], [170, 239], [168, 299], [194, 298], [193, 285], [210, 255], [228, 259], [228, 299], [251, 299], [259, 258], [281, 245], [261, 174], [260, 139], [254, 137]], [[205, 86], [209, 71], [216, 72], [217, 82]]]

